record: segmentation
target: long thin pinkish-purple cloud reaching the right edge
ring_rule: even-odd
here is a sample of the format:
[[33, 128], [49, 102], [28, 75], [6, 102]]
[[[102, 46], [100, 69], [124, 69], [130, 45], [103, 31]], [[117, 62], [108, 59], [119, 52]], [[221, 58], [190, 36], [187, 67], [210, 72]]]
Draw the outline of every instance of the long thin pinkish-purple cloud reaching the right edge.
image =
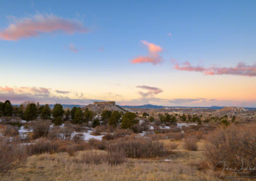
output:
[[189, 62], [184, 62], [180, 66], [179, 62], [172, 60], [174, 68], [181, 71], [198, 71], [204, 73], [204, 75], [241, 75], [241, 76], [256, 76], [256, 64], [248, 66], [244, 62], [240, 62], [234, 68], [216, 67], [212, 66], [204, 68], [202, 66], [191, 66]]

